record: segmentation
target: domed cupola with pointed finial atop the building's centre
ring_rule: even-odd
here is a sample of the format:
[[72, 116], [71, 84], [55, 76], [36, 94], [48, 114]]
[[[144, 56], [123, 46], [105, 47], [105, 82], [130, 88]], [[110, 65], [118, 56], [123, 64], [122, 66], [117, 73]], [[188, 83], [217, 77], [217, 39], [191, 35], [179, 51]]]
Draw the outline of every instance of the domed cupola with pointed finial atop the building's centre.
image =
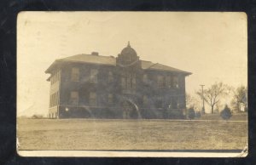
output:
[[127, 47], [123, 48], [121, 54], [118, 55], [117, 64], [118, 65], [133, 65], [137, 63], [139, 57], [135, 49], [131, 48], [130, 42], [128, 42]]

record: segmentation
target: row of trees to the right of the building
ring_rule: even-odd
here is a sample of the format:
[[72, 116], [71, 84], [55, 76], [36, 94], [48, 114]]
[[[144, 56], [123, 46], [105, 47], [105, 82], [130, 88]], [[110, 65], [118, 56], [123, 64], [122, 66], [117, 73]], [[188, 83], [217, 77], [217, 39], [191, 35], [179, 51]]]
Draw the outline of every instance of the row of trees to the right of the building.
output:
[[[234, 88], [221, 82], [213, 83], [208, 88], [195, 91], [195, 95], [198, 97], [186, 94], [187, 108], [202, 111], [200, 103], [204, 100], [206, 105], [211, 107], [212, 114], [220, 112], [223, 105], [225, 105], [224, 109], [228, 108], [230, 111], [247, 111], [247, 87], [243, 85]], [[230, 100], [230, 104], [227, 103], [227, 100]], [[241, 110], [241, 107], [243, 107], [243, 110]]]

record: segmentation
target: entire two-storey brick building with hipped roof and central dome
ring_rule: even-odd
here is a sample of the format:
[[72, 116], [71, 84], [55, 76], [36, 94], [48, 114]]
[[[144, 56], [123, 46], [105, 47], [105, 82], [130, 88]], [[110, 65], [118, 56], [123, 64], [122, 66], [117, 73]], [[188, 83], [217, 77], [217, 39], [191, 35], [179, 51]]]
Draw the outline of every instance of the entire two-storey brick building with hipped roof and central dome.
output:
[[186, 108], [185, 77], [191, 74], [140, 60], [130, 43], [116, 58], [73, 55], [55, 60], [45, 73], [49, 118], [173, 118]]

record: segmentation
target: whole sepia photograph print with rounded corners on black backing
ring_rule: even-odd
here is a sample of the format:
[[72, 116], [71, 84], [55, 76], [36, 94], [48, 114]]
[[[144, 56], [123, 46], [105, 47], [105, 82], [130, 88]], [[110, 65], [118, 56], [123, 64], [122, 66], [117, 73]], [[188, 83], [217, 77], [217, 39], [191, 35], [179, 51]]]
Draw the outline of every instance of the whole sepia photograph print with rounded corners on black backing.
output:
[[247, 156], [247, 14], [20, 12], [20, 156]]

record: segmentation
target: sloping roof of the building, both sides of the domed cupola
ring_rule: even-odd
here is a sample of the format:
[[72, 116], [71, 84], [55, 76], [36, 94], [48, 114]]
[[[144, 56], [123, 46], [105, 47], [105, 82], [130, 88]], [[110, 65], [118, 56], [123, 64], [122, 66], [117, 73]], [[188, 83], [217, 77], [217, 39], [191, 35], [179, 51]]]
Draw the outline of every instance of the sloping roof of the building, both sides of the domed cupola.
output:
[[[176, 68], [173, 68], [168, 65], [162, 65], [159, 63], [153, 63], [151, 61], [141, 60], [143, 70], [156, 70], [156, 71], [175, 71], [182, 72], [186, 75], [190, 75], [191, 73], [188, 71], [182, 71]], [[50, 73], [50, 70], [57, 64], [63, 62], [79, 62], [79, 63], [89, 63], [96, 65], [116, 65], [116, 58], [113, 56], [103, 56], [103, 55], [93, 55], [93, 54], [77, 54], [67, 58], [55, 60], [53, 64], [49, 66], [49, 68], [45, 71], [46, 73]]]

